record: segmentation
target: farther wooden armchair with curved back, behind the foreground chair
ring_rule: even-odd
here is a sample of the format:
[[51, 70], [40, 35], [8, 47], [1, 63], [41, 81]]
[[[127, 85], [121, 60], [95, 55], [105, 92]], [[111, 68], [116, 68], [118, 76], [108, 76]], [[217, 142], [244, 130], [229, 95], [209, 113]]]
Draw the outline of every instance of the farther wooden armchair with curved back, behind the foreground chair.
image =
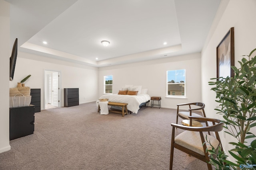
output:
[[[188, 106], [188, 111], [179, 111], [179, 106]], [[194, 108], [192, 108], [195, 106]], [[206, 117], [204, 112], [205, 105], [203, 103], [185, 103], [185, 104], [177, 104], [177, 117], [176, 117], [176, 124], [178, 124], [178, 117], [181, 117], [182, 119], [189, 119], [188, 116], [195, 116], [195, 117]], [[203, 116], [193, 113], [193, 111], [202, 111]], [[199, 122], [205, 122], [205, 121], [199, 121]], [[208, 126], [207, 121], [205, 122]]]

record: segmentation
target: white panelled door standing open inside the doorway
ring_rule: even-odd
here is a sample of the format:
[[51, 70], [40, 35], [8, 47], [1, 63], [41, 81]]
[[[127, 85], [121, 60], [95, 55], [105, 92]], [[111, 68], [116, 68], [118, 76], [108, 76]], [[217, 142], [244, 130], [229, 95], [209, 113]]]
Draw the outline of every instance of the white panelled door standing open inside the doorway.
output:
[[52, 105], [59, 106], [59, 74], [52, 73]]

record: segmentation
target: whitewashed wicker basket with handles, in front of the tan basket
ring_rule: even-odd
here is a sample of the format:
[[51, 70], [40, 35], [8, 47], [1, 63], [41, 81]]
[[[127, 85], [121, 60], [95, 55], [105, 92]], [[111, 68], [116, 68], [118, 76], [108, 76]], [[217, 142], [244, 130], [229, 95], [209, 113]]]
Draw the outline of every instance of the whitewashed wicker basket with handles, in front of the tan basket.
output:
[[[21, 96], [16, 96], [21, 95]], [[10, 107], [21, 107], [28, 106], [31, 102], [31, 96], [24, 96], [23, 94], [16, 94], [14, 97], [10, 97], [9, 106]]]

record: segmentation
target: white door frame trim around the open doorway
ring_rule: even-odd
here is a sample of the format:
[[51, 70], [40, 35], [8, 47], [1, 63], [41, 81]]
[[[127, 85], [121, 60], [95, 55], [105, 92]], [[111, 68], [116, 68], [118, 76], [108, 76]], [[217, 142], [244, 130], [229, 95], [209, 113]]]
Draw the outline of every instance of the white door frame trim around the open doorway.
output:
[[58, 74], [59, 74], [59, 89], [58, 89], [58, 100], [60, 101], [59, 103], [58, 103], [58, 107], [61, 107], [62, 106], [62, 98], [61, 98], [61, 96], [62, 96], [62, 94], [61, 94], [61, 71], [60, 70], [50, 70], [50, 69], [44, 69], [44, 110], [45, 110], [45, 100], [46, 100], [46, 88], [47, 88], [47, 84], [46, 84], [46, 82], [47, 82], [47, 80], [46, 80], [46, 71], [51, 71], [51, 72], [58, 72]]

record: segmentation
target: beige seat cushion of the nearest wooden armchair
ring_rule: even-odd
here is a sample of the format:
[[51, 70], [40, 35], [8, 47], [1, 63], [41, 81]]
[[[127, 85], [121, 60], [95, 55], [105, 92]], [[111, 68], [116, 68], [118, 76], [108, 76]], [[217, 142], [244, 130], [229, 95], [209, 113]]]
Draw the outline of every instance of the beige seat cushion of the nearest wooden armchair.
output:
[[[206, 134], [204, 133], [204, 138], [206, 137]], [[214, 146], [214, 148], [217, 148], [219, 145], [219, 141], [213, 137], [207, 134], [207, 140], [208, 142]], [[206, 141], [206, 139], [205, 139]], [[196, 131], [184, 131], [177, 135], [174, 139], [174, 142], [178, 145], [181, 145], [182, 147], [185, 147], [187, 149], [190, 149], [198, 154], [204, 155], [204, 148], [202, 146], [202, 141], [199, 132]], [[208, 145], [209, 143], [206, 142], [206, 146], [211, 147]], [[210, 153], [209, 153], [210, 154]]]

